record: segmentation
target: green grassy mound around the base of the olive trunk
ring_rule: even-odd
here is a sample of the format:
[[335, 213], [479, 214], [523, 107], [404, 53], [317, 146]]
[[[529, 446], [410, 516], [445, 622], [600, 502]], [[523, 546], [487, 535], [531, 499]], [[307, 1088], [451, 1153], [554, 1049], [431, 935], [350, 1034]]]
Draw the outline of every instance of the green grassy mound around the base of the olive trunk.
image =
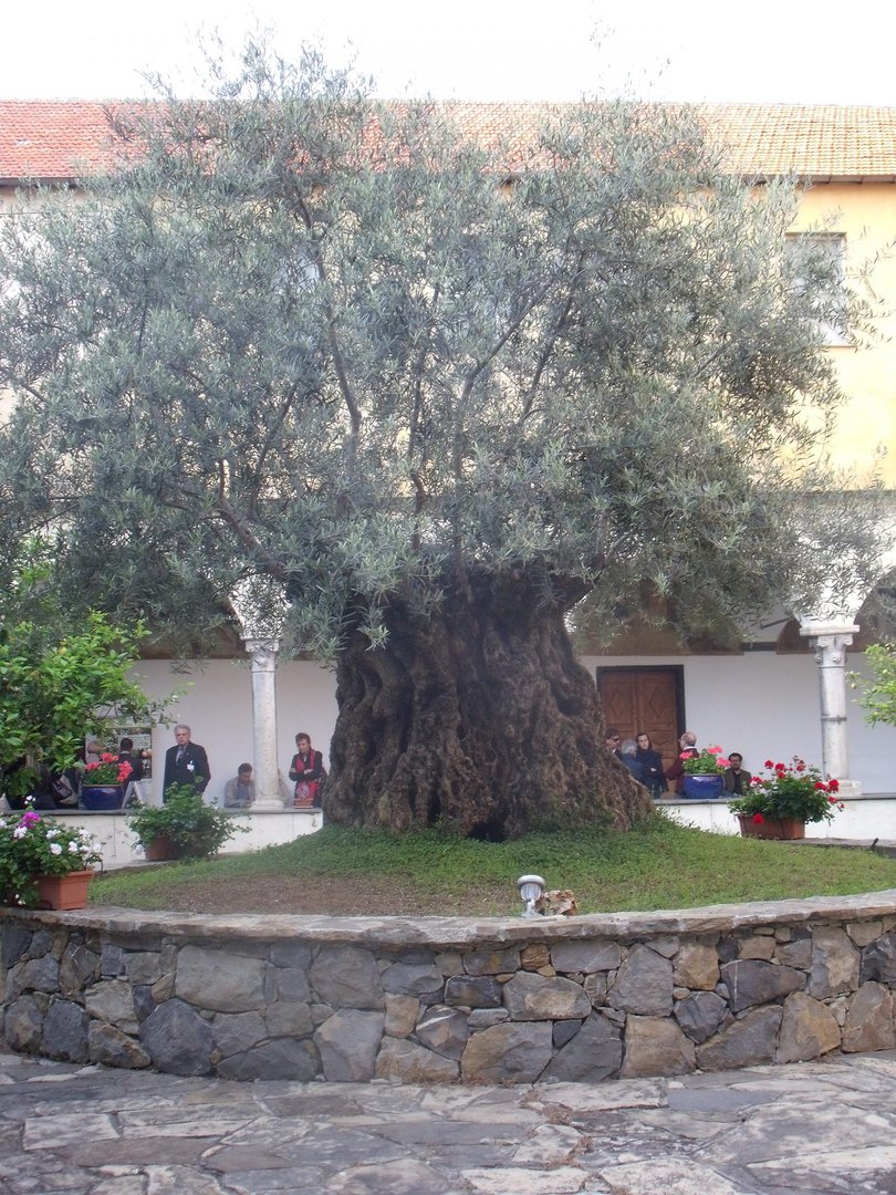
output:
[[[896, 888], [896, 859], [867, 850], [741, 839], [686, 829], [655, 814], [627, 834], [529, 834], [513, 842], [477, 842], [436, 831], [393, 836], [325, 827], [286, 846], [214, 859], [111, 874], [91, 885], [91, 902], [134, 908], [217, 911], [215, 893], [245, 890], [245, 912], [288, 912], [258, 893], [289, 884], [338, 881], [357, 908], [370, 885], [400, 890], [400, 912], [426, 905], [455, 915], [514, 914], [516, 880], [534, 871], [548, 888], [570, 888], [579, 913], [648, 911], [749, 900], [837, 895]], [[264, 881], [268, 881], [265, 884]], [[254, 906], [252, 905], [254, 900]], [[321, 908], [321, 912], [326, 912]]]

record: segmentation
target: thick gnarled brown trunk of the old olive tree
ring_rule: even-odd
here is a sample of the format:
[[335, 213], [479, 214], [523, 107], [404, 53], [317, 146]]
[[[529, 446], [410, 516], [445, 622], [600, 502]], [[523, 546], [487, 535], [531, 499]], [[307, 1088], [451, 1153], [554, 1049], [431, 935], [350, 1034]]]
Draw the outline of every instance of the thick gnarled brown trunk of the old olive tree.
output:
[[529, 584], [480, 578], [429, 617], [394, 603], [387, 624], [383, 649], [355, 633], [338, 657], [327, 821], [502, 840], [627, 829], [651, 808], [607, 753], [563, 611]]

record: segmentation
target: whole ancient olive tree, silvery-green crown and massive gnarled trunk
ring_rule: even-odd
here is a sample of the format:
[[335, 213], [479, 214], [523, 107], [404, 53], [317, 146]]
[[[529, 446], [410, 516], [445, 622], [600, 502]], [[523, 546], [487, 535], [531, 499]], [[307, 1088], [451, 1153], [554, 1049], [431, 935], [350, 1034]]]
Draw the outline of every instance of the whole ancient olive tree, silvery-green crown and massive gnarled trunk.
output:
[[848, 313], [783, 252], [793, 189], [664, 108], [498, 141], [311, 53], [211, 81], [112, 110], [116, 167], [1, 221], [0, 534], [194, 639], [276, 583], [337, 661], [333, 820], [628, 825], [573, 612], [702, 629], [867, 551], [800, 538]]

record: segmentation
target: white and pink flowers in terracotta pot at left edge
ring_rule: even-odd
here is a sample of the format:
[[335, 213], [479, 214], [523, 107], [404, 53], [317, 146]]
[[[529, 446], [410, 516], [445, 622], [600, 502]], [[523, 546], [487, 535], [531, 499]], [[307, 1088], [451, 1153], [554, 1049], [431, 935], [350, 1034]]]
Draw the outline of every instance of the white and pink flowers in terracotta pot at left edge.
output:
[[87, 831], [35, 809], [0, 816], [0, 895], [29, 908], [84, 908], [87, 884], [102, 864]]

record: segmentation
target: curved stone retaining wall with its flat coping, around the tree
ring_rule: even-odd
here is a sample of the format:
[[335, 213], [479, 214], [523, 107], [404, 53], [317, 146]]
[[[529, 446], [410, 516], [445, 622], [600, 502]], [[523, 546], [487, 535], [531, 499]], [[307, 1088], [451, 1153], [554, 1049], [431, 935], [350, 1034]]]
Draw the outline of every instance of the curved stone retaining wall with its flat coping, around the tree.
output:
[[896, 890], [579, 918], [0, 911], [7, 1043], [228, 1079], [596, 1081], [896, 1047]]

